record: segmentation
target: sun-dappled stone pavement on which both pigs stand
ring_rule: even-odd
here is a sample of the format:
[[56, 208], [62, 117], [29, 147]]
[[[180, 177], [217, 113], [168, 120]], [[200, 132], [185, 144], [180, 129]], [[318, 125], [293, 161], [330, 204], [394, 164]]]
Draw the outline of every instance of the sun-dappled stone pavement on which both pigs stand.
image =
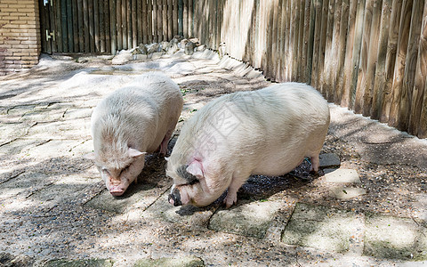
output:
[[92, 162], [90, 116], [148, 70], [180, 85], [181, 125], [217, 95], [270, 83], [205, 50], [111, 65], [52, 59], [0, 79], [0, 266], [421, 266], [427, 264], [427, 142], [330, 105], [331, 126], [309, 174], [256, 175], [238, 205], [173, 207], [165, 160], [147, 157], [125, 196]]

